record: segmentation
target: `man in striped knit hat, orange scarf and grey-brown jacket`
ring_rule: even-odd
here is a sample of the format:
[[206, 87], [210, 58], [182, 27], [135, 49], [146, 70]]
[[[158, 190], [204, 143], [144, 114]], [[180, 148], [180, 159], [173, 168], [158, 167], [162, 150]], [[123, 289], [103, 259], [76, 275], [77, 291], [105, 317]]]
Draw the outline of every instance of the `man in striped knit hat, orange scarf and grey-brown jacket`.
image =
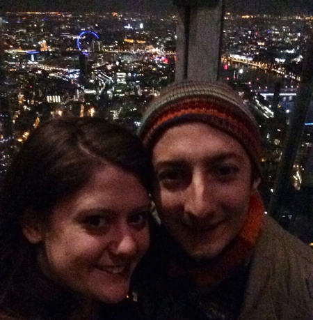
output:
[[258, 126], [239, 96], [174, 84], [138, 134], [161, 220], [137, 287], [146, 319], [313, 319], [313, 254], [264, 215]]

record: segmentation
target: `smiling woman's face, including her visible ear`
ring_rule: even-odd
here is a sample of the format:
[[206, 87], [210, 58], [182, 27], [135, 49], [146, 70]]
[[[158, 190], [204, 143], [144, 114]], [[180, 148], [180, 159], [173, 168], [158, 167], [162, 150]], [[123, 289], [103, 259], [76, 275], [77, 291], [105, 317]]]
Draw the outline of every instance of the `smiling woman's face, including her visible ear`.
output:
[[147, 251], [149, 214], [150, 198], [138, 178], [106, 165], [56, 206], [48, 229], [24, 228], [24, 234], [42, 243], [40, 266], [53, 280], [88, 298], [118, 303]]

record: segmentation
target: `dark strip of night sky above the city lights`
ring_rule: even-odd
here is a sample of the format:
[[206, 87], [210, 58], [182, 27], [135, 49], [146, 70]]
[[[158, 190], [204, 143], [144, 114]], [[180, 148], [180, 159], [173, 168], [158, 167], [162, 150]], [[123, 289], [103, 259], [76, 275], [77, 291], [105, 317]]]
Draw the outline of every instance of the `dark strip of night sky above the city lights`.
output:
[[[209, 1], [209, 0], [202, 0]], [[225, 0], [225, 8], [233, 13], [307, 13], [313, 15], [313, 0]], [[169, 10], [172, 0], [0, 0], [1, 11], [99, 11]]]

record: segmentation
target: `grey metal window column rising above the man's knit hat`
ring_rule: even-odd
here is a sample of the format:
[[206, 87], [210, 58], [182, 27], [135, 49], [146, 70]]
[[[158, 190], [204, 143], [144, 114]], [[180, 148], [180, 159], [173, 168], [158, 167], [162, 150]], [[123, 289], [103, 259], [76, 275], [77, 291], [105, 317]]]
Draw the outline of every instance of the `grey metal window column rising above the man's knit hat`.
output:
[[174, 0], [178, 8], [175, 81], [218, 79], [223, 0]]

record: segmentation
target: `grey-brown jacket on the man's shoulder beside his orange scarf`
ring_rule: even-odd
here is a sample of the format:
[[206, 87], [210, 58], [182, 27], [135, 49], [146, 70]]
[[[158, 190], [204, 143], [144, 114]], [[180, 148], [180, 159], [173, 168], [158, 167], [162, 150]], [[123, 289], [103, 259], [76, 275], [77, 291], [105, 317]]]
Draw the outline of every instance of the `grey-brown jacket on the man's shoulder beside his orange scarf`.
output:
[[255, 247], [239, 319], [313, 319], [312, 249], [272, 218]]

